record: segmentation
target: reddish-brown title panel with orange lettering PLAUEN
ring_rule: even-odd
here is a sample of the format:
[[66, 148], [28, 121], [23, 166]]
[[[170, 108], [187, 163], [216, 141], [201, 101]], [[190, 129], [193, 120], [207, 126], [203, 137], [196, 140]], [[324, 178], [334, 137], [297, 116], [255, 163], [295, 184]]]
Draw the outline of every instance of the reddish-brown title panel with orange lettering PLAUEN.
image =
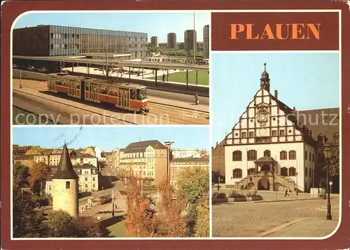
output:
[[211, 13], [211, 50], [339, 50], [339, 13]]

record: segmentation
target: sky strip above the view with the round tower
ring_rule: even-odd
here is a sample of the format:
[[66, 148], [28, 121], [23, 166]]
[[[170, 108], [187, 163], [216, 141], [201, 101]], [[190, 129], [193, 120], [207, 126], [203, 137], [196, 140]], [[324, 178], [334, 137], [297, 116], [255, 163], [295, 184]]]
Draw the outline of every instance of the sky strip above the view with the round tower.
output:
[[[125, 148], [132, 142], [158, 140], [174, 141], [172, 148], [206, 149], [209, 151], [208, 127], [110, 127], [85, 126], [43, 126], [43, 127], [13, 127], [13, 144], [20, 146], [41, 146], [41, 148], [61, 148], [66, 141], [68, 148], [85, 148], [97, 146], [104, 151], [113, 148]], [[69, 144], [76, 137], [76, 140]]]

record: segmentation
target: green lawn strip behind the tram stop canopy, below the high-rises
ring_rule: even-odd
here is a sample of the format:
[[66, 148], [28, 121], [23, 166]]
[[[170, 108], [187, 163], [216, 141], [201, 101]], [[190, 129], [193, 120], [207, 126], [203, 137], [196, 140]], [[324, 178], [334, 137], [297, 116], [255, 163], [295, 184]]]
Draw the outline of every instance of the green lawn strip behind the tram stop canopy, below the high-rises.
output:
[[[208, 71], [197, 71], [198, 72], [198, 85], [209, 85], [209, 74]], [[158, 71], [158, 73], [160, 73]], [[163, 75], [157, 76], [158, 81], [162, 81]], [[150, 77], [149, 79], [155, 79]], [[165, 81], [167, 81], [167, 74], [165, 74]], [[186, 83], [186, 71], [179, 71], [173, 74], [169, 74], [170, 82]], [[196, 84], [196, 71], [188, 71], [188, 83]]]

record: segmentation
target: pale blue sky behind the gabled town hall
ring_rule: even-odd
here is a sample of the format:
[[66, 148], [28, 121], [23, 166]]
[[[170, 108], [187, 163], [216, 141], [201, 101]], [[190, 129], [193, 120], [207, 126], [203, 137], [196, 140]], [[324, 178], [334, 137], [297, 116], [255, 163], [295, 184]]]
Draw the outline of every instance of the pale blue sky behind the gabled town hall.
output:
[[266, 70], [270, 92], [291, 109], [339, 107], [338, 53], [211, 53], [211, 141], [220, 143], [238, 122]]

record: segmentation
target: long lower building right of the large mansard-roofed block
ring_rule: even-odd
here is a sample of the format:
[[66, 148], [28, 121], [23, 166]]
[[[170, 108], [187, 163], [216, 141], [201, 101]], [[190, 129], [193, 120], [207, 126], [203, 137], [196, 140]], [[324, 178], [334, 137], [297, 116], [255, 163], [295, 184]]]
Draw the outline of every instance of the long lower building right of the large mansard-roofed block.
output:
[[170, 183], [176, 187], [179, 174], [184, 169], [200, 167], [209, 171], [209, 159], [204, 158], [173, 158], [170, 160]]

